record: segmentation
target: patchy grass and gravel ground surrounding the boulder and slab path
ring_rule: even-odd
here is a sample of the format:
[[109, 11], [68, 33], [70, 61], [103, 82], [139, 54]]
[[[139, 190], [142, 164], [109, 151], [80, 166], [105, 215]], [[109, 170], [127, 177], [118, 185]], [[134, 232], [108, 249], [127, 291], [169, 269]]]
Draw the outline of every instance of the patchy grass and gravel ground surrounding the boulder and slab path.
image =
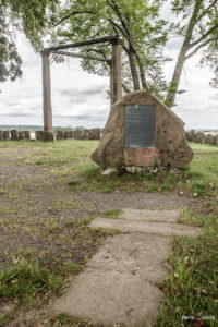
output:
[[[96, 209], [86, 198], [93, 191], [175, 192], [191, 198], [194, 205], [181, 220], [204, 232], [197, 240], [174, 239], [157, 326], [194, 326], [197, 319], [199, 326], [217, 326], [201, 313], [218, 312], [218, 148], [192, 144], [195, 157], [184, 171], [102, 177], [89, 159], [96, 146], [96, 141], [75, 140], [0, 142], [0, 326], [60, 294], [104, 243], [108, 232], [87, 223], [96, 216], [116, 218], [120, 208], [99, 204], [102, 209]], [[47, 326], [92, 326], [64, 315], [50, 319], [44, 314], [44, 320]]]

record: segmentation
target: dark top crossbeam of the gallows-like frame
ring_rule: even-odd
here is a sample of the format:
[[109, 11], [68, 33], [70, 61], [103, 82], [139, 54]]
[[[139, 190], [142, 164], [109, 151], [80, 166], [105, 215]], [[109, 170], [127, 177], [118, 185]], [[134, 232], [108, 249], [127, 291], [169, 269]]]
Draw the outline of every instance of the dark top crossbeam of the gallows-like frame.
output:
[[107, 41], [118, 41], [118, 40], [119, 40], [119, 36], [117, 36], [117, 35], [116, 36], [107, 36], [107, 37], [96, 38], [93, 40], [81, 41], [81, 43], [76, 43], [76, 44], [61, 45], [61, 46], [45, 48], [41, 52], [52, 52], [52, 51], [58, 51], [58, 50], [63, 50], [63, 49], [77, 48], [77, 47], [83, 47], [83, 46], [102, 44], [102, 43], [107, 43]]

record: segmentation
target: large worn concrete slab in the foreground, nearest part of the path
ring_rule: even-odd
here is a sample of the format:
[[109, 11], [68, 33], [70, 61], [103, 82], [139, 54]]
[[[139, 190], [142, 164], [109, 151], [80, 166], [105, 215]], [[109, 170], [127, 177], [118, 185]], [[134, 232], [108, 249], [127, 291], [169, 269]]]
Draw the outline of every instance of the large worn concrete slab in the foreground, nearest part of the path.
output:
[[51, 313], [104, 326], [153, 326], [164, 298], [157, 283], [166, 275], [170, 241], [142, 233], [109, 237]]

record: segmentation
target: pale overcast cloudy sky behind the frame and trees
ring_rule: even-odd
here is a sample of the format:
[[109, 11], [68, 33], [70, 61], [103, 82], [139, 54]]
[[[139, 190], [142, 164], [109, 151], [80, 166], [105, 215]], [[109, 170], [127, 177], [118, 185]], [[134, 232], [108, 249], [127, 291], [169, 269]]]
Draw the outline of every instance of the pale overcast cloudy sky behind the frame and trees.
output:
[[[17, 37], [17, 48], [23, 60], [23, 77], [2, 83], [0, 88], [0, 125], [43, 125], [41, 59], [34, 53], [24, 36]], [[179, 39], [171, 39], [166, 55], [173, 58], [165, 72], [170, 81], [178, 51]], [[201, 55], [190, 59], [184, 66], [173, 111], [185, 122], [185, 129], [218, 129], [218, 89], [209, 86], [213, 72], [198, 68]], [[104, 128], [110, 102], [107, 99], [109, 78], [85, 73], [78, 59], [51, 65], [51, 93], [53, 125]]]

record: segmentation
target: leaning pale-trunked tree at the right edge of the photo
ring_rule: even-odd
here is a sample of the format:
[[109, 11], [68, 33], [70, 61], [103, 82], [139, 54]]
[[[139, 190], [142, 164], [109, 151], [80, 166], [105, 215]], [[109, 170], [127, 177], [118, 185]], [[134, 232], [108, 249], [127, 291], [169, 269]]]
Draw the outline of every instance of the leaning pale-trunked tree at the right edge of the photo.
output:
[[[180, 15], [180, 23], [174, 24], [175, 35], [183, 36], [182, 47], [174, 68], [167, 96], [167, 105], [175, 100], [184, 62], [199, 49], [206, 48], [202, 63], [213, 63], [217, 72], [218, 51], [218, 0], [174, 0], [172, 10]], [[216, 82], [216, 83], [215, 83]], [[217, 85], [215, 76], [214, 86]]]

